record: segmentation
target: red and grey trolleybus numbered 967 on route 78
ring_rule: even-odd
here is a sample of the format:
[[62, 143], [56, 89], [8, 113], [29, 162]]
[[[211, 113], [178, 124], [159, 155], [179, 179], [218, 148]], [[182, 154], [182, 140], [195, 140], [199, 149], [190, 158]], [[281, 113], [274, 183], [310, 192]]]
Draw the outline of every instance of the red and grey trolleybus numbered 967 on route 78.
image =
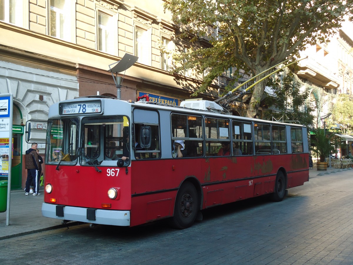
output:
[[212, 101], [175, 107], [100, 96], [49, 109], [43, 216], [134, 226], [309, 181], [305, 126], [222, 113]]

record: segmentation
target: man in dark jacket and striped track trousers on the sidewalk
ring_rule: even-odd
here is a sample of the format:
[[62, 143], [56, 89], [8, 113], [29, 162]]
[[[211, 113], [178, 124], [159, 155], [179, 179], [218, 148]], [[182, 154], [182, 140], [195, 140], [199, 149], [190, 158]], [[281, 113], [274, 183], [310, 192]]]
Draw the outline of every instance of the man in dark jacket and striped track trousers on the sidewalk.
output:
[[25, 168], [27, 169], [27, 180], [26, 180], [26, 188], [25, 188], [25, 195], [29, 195], [29, 186], [33, 181], [33, 196], [40, 195], [38, 193], [39, 187], [37, 185], [40, 176], [38, 176], [39, 170], [39, 160], [37, 154], [37, 143], [32, 143], [32, 147], [26, 151], [25, 155]]

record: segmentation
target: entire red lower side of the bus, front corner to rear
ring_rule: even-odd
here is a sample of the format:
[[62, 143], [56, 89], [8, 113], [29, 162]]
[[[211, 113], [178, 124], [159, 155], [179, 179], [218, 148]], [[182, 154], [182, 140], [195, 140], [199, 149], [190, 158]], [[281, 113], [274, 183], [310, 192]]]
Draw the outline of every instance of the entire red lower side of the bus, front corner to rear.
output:
[[202, 208], [274, 192], [280, 168], [288, 172], [292, 183], [302, 185], [309, 176], [306, 157], [285, 154], [132, 161], [131, 225], [172, 216], [178, 188], [188, 177], [201, 183]]

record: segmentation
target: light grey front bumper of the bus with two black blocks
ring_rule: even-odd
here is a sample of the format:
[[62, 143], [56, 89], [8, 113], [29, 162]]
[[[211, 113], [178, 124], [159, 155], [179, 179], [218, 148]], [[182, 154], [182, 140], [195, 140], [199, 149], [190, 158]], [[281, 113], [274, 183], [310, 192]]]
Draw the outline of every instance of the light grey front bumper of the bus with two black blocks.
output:
[[59, 205], [43, 202], [42, 215], [45, 217], [56, 218], [60, 220], [70, 220], [93, 224], [130, 226], [130, 211], [93, 209], [95, 215], [95, 218], [93, 218], [95, 220], [93, 220], [92, 218], [87, 219], [88, 210], [92, 212], [92, 209], [90, 208], [61, 206], [63, 208], [64, 216], [58, 216], [56, 206]]

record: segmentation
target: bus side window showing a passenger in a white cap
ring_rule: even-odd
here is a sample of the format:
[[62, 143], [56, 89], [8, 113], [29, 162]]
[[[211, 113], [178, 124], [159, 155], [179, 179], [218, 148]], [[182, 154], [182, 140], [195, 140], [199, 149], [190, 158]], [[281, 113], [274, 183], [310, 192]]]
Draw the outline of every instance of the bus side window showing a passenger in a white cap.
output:
[[[202, 117], [187, 114], [172, 113], [172, 156], [202, 157], [203, 155], [203, 131]], [[177, 152], [176, 146], [181, 145]], [[179, 155], [178, 155], [179, 153]]]

